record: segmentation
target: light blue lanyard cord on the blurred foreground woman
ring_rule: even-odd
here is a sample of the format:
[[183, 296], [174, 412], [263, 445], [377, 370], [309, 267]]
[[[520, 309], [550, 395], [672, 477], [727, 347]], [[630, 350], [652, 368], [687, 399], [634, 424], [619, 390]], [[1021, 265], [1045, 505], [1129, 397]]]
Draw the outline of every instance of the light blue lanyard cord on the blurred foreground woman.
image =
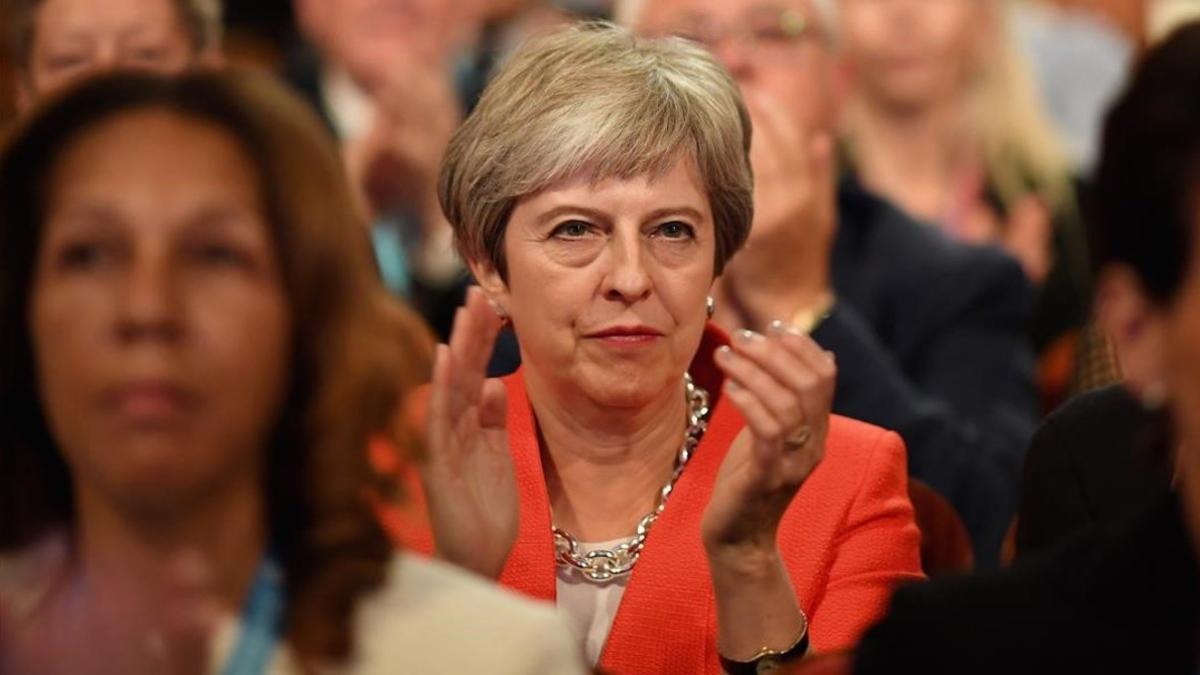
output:
[[283, 628], [283, 571], [266, 557], [254, 573], [254, 584], [241, 610], [241, 631], [222, 675], [263, 675], [275, 655]]

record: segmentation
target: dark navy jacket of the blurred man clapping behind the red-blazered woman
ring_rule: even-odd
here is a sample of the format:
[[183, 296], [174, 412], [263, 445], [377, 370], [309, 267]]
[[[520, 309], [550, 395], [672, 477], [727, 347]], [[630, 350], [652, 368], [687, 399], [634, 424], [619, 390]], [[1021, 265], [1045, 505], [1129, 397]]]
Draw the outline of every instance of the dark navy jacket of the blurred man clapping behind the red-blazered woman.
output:
[[950, 240], [851, 179], [838, 195], [838, 304], [812, 336], [838, 357], [834, 412], [900, 432], [990, 566], [1036, 424], [1033, 291], [997, 249]]

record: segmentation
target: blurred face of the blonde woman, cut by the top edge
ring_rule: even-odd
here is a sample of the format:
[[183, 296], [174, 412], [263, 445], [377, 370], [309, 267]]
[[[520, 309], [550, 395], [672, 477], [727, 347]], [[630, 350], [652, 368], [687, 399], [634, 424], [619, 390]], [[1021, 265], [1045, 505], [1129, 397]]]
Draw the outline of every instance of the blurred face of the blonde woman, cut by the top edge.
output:
[[920, 108], [959, 96], [996, 20], [992, 0], [839, 0], [841, 49], [858, 90]]

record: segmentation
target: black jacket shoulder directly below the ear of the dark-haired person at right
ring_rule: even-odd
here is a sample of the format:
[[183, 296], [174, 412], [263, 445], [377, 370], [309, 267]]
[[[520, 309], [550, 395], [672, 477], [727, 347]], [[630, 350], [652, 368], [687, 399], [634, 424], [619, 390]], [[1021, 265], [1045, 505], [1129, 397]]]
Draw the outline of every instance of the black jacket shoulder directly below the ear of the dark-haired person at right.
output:
[[1051, 413], [1025, 458], [1016, 555], [1162, 498], [1171, 480], [1168, 464], [1151, 456], [1153, 430], [1152, 417], [1120, 386], [1076, 396]]

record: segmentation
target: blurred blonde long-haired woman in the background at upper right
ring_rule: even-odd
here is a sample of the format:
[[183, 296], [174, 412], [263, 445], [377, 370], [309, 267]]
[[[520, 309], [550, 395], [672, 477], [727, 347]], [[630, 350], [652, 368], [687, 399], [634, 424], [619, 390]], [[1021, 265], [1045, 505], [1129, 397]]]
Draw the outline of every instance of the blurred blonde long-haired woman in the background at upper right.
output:
[[[998, 244], [1039, 288], [1043, 393], [1087, 317], [1067, 154], [1008, 29], [1007, 0], [841, 0], [851, 165], [871, 190], [967, 241]], [[1070, 363], [1069, 357], [1061, 359]]]

